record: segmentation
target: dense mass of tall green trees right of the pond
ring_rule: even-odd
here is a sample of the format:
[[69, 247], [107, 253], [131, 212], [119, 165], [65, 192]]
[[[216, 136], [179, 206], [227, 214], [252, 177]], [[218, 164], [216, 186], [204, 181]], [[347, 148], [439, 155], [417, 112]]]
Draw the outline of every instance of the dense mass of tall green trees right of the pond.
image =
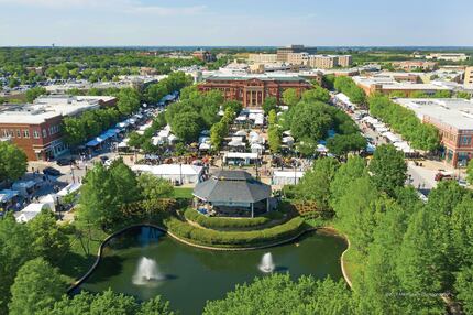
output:
[[440, 182], [424, 204], [404, 186], [407, 166], [393, 145], [366, 166], [317, 160], [296, 196], [333, 211], [351, 242], [345, 268], [353, 283], [343, 314], [444, 314], [450, 296], [473, 312], [473, 194]]

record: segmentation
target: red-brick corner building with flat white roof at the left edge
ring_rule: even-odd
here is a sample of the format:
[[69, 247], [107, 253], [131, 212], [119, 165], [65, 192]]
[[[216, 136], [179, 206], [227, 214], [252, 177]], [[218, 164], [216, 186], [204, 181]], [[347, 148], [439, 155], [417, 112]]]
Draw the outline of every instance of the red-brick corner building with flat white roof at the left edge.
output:
[[[107, 102], [113, 97], [92, 97], [90, 99], [48, 97], [34, 104], [7, 105], [0, 107], [0, 138], [21, 148], [30, 161], [51, 160], [67, 150], [63, 142], [62, 122], [64, 117], [74, 117], [84, 111], [100, 108], [101, 100]], [[87, 99], [88, 98], [88, 99]]]

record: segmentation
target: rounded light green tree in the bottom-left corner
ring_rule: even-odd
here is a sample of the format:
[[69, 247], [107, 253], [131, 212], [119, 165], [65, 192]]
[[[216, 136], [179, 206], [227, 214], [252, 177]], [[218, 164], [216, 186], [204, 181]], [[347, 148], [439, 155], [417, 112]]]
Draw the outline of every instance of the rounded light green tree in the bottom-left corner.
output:
[[36, 314], [59, 300], [65, 289], [66, 282], [47, 261], [42, 258], [30, 260], [14, 279], [9, 314]]

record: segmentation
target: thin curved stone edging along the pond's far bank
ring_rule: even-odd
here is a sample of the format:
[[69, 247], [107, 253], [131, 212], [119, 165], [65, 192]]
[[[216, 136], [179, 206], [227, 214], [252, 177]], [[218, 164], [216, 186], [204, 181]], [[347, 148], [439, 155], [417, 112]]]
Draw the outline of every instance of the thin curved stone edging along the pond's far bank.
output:
[[309, 232], [309, 231], [316, 231], [316, 230], [328, 230], [328, 231], [331, 231], [331, 232], [333, 232], [333, 233], [336, 233], [336, 235], [338, 235], [338, 236], [341, 236], [341, 237], [342, 237], [342, 238], [348, 242], [348, 248], [343, 251], [343, 253], [342, 253], [342, 256], [341, 256], [341, 258], [340, 258], [340, 261], [341, 261], [341, 269], [342, 269], [343, 278], [344, 278], [344, 280], [346, 281], [346, 283], [349, 284], [349, 286], [350, 286], [350, 287], [352, 287], [352, 283], [351, 283], [350, 279], [349, 279], [349, 278], [348, 278], [348, 275], [346, 275], [345, 268], [344, 268], [344, 261], [343, 261], [343, 257], [344, 257], [345, 252], [350, 249], [350, 240], [346, 238], [346, 236], [340, 235], [340, 233], [339, 233], [334, 228], [331, 228], [331, 227], [321, 227], [321, 228], [315, 228], [315, 227], [311, 227], [311, 228], [308, 228], [308, 229], [305, 229], [305, 230], [302, 230], [302, 231], [298, 232], [297, 235], [295, 235], [295, 236], [293, 236], [293, 237], [290, 237], [290, 238], [288, 238], [288, 239], [280, 240], [280, 241], [277, 241], [277, 242], [274, 242], [274, 243], [268, 243], [268, 245], [264, 245], [264, 246], [258, 246], [258, 247], [222, 248], [222, 247], [210, 247], [210, 246], [204, 246], [204, 245], [193, 243], [193, 242], [190, 242], [190, 241], [188, 241], [188, 240], [186, 240], [186, 239], [179, 238], [178, 236], [176, 236], [176, 235], [174, 235], [174, 233], [169, 232], [168, 230], [166, 230], [166, 229], [165, 229], [165, 228], [163, 228], [163, 227], [160, 227], [160, 226], [156, 226], [156, 225], [151, 225], [151, 224], [139, 224], [139, 225], [132, 225], [132, 226], [129, 226], [129, 227], [122, 228], [121, 230], [119, 230], [119, 231], [117, 231], [117, 232], [113, 232], [113, 233], [109, 235], [109, 236], [108, 236], [108, 237], [107, 237], [107, 238], [101, 242], [101, 245], [99, 246], [99, 250], [98, 250], [98, 252], [97, 252], [97, 258], [96, 258], [96, 261], [94, 262], [92, 267], [90, 267], [90, 269], [87, 271], [87, 273], [86, 273], [86, 274], [84, 274], [79, 280], [75, 281], [75, 282], [69, 286], [69, 289], [67, 289], [67, 293], [68, 293], [68, 294], [69, 294], [69, 293], [72, 293], [72, 292], [73, 292], [74, 290], [76, 290], [80, 284], [82, 284], [82, 283], [84, 283], [84, 282], [85, 282], [85, 281], [90, 276], [90, 274], [92, 274], [92, 272], [97, 269], [97, 267], [99, 265], [99, 263], [100, 263], [100, 261], [101, 261], [102, 252], [103, 252], [103, 248], [105, 248], [105, 246], [106, 246], [106, 245], [107, 245], [107, 243], [108, 243], [112, 238], [114, 238], [114, 237], [117, 237], [117, 236], [119, 236], [119, 235], [123, 233], [124, 231], [127, 231], [127, 230], [129, 230], [129, 229], [136, 228], [136, 227], [152, 227], [152, 228], [156, 228], [156, 229], [158, 229], [160, 231], [162, 231], [162, 232], [165, 232], [165, 233], [169, 235], [173, 239], [175, 239], [175, 240], [177, 240], [177, 241], [179, 241], [179, 242], [182, 242], [182, 243], [185, 243], [185, 245], [187, 245], [187, 246], [191, 246], [191, 247], [196, 247], [196, 248], [201, 248], [201, 249], [207, 249], [207, 250], [219, 250], [219, 251], [245, 251], [245, 250], [265, 249], [265, 248], [271, 248], [271, 247], [276, 247], [276, 246], [284, 245], [284, 243], [288, 243], [288, 242], [290, 242], [290, 241], [294, 241], [294, 240], [298, 239], [298, 238], [299, 238], [299, 237], [301, 237], [304, 233]]

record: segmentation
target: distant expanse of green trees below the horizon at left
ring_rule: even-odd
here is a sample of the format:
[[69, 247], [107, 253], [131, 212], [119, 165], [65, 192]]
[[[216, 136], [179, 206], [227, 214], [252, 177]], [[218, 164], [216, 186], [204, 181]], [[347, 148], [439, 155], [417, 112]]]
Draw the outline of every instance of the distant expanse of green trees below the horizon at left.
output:
[[[0, 75], [10, 87], [35, 84], [46, 79], [112, 80], [120, 75], [139, 74], [140, 67], [151, 67], [160, 74], [173, 69], [204, 65], [197, 58], [168, 58], [144, 55], [135, 50], [118, 48], [1, 48]], [[35, 70], [33, 67], [41, 67]]]

